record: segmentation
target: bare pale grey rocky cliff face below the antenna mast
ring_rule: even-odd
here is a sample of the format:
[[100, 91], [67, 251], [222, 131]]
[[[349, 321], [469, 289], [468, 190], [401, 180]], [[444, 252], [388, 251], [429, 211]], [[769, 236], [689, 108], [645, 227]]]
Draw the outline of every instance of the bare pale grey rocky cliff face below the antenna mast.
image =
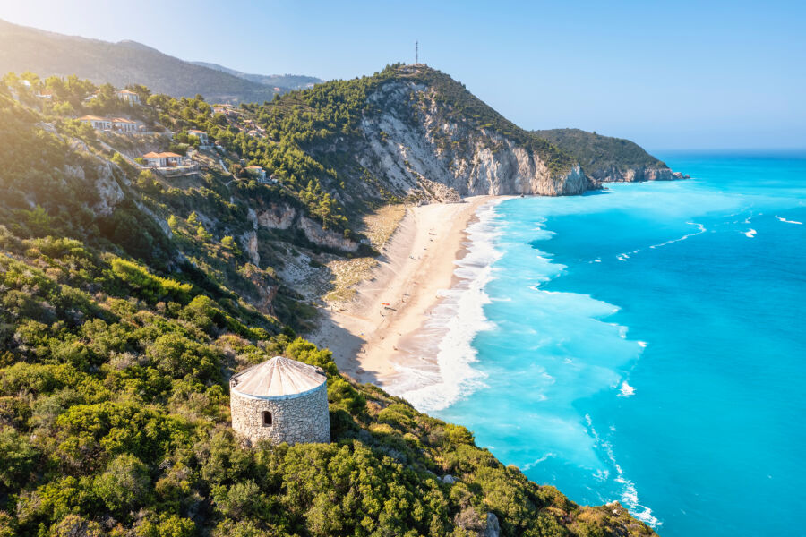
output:
[[[451, 119], [450, 105], [416, 81], [382, 85], [368, 102], [365, 145], [358, 162], [385, 180], [391, 192], [428, 200], [478, 194], [579, 194], [592, 183], [579, 166], [552, 171], [534, 152], [493, 129]], [[438, 192], [432, 183], [447, 189]]]

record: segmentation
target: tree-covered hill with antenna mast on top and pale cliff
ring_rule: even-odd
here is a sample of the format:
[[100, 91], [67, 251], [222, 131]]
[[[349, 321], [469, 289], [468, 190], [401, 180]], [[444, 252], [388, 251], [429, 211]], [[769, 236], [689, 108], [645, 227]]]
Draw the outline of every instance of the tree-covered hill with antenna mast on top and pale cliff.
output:
[[213, 114], [195, 115], [193, 125], [296, 192], [310, 185], [330, 193], [347, 216], [386, 201], [591, 186], [574, 158], [423, 65], [391, 65], [238, 112], [262, 135]]

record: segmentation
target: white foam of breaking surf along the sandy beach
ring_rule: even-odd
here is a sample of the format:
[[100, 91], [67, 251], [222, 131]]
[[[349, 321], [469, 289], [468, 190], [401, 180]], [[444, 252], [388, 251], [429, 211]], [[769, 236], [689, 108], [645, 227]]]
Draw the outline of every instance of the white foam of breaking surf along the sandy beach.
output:
[[424, 363], [423, 367], [398, 367], [400, 373], [405, 373], [399, 377], [405, 380], [388, 386], [391, 393], [405, 397], [419, 410], [442, 410], [484, 387], [485, 374], [473, 367], [476, 349], [470, 344], [479, 331], [495, 328], [484, 317], [484, 304], [491, 303], [484, 286], [493, 279], [492, 265], [502, 255], [495, 249], [499, 235], [493, 223], [495, 205], [484, 205], [476, 212], [478, 220], [467, 227], [467, 255], [457, 261], [454, 271], [459, 284], [441, 294], [442, 302], [425, 323], [428, 337], [440, 337], [435, 366]]

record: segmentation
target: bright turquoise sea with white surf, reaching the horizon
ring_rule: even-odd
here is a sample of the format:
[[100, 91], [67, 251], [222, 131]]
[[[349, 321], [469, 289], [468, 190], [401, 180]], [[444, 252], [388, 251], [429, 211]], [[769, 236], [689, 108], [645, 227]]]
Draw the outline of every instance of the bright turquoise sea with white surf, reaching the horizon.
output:
[[404, 396], [665, 537], [806, 535], [806, 154], [658, 156], [692, 178], [482, 209]]

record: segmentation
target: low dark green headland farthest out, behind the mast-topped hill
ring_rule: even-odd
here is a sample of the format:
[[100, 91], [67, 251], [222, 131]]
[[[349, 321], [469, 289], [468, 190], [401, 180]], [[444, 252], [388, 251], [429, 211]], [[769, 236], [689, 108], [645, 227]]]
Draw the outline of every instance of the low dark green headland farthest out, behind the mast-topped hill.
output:
[[681, 179], [637, 143], [580, 129], [532, 131], [577, 159], [598, 182]]

